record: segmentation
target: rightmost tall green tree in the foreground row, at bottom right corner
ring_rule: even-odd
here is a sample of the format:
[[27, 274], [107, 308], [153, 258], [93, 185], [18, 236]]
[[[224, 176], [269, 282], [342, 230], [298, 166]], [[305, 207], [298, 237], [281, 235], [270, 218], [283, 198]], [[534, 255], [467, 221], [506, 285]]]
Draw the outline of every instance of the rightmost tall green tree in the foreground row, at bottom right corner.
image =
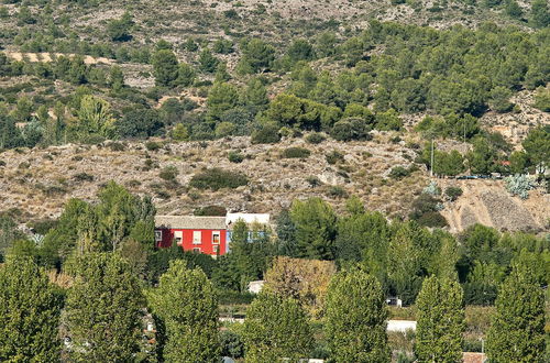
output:
[[544, 361], [544, 294], [526, 266], [516, 266], [501, 285], [487, 333], [492, 362]]

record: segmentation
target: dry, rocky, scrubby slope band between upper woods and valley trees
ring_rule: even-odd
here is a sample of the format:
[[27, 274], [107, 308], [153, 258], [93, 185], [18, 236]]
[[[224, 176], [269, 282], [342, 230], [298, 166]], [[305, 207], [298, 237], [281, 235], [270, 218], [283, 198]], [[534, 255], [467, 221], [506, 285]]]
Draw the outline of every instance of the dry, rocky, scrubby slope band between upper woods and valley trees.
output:
[[[44, 150], [15, 150], [1, 154], [1, 209], [12, 210], [21, 220], [55, 218], [69, 198], [92, 200], [98, 188], [116, 180], [138, 194], [154, 197], [161, 213], [191, 213], [218, 205], [232, 211], [277, 213], [294, 198], [321, 196], [343, 209], [346, 196], [356, 195], [369, 209], [391, 217], [406, 217], [411, 201], [428, 184], [425, 169], [396, 180], [395, 166], [409, 167], [416, 156], [416, 140], [391, 141], [377, 133], [369, 142], [324, 141], [317, 145], [301, 139], [275, 145], [252, 145], [249, 138], [213, 142], [162, 143], [147, 150], [143, 143], [65, 145]], [[154, 148], [151, 143], [148, 148]], [[306, 158], [285, 158], [288, 147], [305, 147]], [[230, 152], [243, 156], [231, 163]], [[334, 153], [337, 152], [337, 153]], [[329, 157], [327, 157], [329, 155]], [[175, 166], [175, 179], [162, 172]], [[220, 167], [248, 176], [249, 185], [218, 191], [188, 186], [206, 168]], [[460, 186], [464, 194], [446, 202], [443, 216], [452, 232], [474, 222], [503, 230], [544, 230], [550, 216], [550, 196], [531, 191], [528, 200], [510, 197], [502, 182], [439, 179], [438, 184]]]

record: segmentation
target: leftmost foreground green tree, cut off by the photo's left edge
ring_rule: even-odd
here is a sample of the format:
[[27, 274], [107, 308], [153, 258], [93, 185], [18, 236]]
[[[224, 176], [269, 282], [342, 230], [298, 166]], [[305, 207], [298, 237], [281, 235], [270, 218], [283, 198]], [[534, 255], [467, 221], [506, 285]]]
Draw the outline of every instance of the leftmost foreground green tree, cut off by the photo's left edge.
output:
[[57, 362], [63, 297], [30, 258], [0, 266], [0, 361]]

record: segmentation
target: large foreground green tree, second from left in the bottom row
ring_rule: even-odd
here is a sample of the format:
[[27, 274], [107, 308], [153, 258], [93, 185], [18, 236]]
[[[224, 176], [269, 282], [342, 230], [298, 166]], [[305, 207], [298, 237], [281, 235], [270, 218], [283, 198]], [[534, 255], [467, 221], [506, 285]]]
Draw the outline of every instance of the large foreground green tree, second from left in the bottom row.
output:
[[67, 328], [75, 362], [129, 362], [139, 352], [144, 298], [129, 264], [117, 254], [89, 253], [67, 266]]

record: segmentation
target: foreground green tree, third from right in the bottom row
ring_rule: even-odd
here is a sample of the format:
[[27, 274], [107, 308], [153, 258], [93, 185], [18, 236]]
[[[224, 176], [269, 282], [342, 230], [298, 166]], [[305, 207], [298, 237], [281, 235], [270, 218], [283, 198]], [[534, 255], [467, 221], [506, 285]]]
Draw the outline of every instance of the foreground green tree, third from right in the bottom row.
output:
[[359, 270], [332, 277], [326, 329], [334, 362], [389, 362], [386, 301], [378, 280]]

